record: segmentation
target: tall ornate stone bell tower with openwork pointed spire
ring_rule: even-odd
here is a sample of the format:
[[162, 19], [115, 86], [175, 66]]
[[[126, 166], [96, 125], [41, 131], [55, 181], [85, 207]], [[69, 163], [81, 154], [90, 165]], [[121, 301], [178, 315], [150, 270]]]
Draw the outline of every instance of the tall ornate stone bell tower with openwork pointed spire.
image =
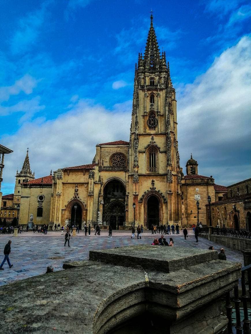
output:
[[136, 204], [136, 222], [144, 221], [148, 228], [155, 223], [180, 223], [181, 171], [175, 89], [166, 53], [160, 54], [153, 15], [144, 56], [139, 53], [135, 65], [128, 158], [129, 184], [132, 184], [129, 208]]

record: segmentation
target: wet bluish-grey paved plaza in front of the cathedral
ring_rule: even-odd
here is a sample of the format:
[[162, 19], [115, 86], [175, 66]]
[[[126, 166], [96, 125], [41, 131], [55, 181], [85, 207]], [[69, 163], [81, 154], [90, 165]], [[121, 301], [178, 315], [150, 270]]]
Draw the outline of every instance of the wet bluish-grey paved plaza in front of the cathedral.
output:
[[[65, 236], [61, 235], [61, 231], [49, 231], [47, 235], [42, 233], [23, 232], [17, 237], [13, 234], [0, 235], [0, 261], [3, 260], [3, 249], [8, 240], [12, 240], [10, 262], [13, 267], [9, 269], [7, 262], [0, 271], [0, 286], [23, 280], [46, 272], [47, 266], [53, 266], [54, 271], [63, 270], [63, 263], [67, 261], [87, 260], [89, 251], [107, 249], [121, 246], [131, 246], [137, 244], [151, 244], [154, 237], [150, 231], [144, 231], [142, 239], [131, 239], [130, 231], [113, 231], [112, 238], [108, 238], [107, 231], [101, 231], [100, 236], [95, 236], [91, 231], [91, 235], [85, 236], [83, 231], [77, 233], [76, 237], [70, 238], [70, 247], [64, 247]], [[220, 251], [223, 245], [208, 241], [205, 238], [199, 238], [199, 242], [195, 242], [192, 230], [188, 231], [188, 238], [185, 240], [183, 233], [179, 235], [165, 235], [169, 241], [169, 237], [174, 239], [175, 246], [196, 247], [208, 249], [214, 246]], [[243, 263], [243, 255], [241, 252], [233, 251], [225, 248], [227, 260]], [[0, 262], [0, 263], [1, 263]]]

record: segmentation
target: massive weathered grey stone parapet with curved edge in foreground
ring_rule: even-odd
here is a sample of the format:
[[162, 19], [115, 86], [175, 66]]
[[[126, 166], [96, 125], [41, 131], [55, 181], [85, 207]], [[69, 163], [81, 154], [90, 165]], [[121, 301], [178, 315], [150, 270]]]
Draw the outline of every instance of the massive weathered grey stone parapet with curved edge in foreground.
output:
[[227, 325], [220, 298], [238, 284], [241, 264], [217, 252], [133, 246], [90, 259], [0, 288], [1, 331], [108, 334], [144, 319], [151, 333], [164, 324], [162, 333], [219, 334]]

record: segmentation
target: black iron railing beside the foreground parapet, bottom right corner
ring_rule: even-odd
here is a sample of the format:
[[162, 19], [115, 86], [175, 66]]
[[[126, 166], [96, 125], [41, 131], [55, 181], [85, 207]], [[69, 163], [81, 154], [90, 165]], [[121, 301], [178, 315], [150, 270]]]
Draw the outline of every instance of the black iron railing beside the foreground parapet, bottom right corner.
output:
[[[247, 296], [246, 290], [246, 277], [248, 277], [248, 293], [249, 297]], [[250, 309], [248, 310], [248, 302], [251, 301], [251, 265], [246, 267], [242, 267], [241, 269], [241, 289], [242, 294], [239, 297], [238, 285], [234, 287], [234, 299], [233, 302], [235, 304], [235, 315], [236, 315], [236, 325], [234, 326], [236, 329], [236, 334], [251, 334], [250, 330], [250, 320], [249, 320], [249, 313]], [[242, 303], [242, 307], [240, 304]], [[233, 333], [232, 329], [232, 309], [233, 306], [231, 305], [231, 298], [230, 292], [226, 294], [226, 309], [227, 309], [227, 317], [228, 317], [228, 334]], [[243, 310], [243, 319], [241, 318], [241, 311]]]

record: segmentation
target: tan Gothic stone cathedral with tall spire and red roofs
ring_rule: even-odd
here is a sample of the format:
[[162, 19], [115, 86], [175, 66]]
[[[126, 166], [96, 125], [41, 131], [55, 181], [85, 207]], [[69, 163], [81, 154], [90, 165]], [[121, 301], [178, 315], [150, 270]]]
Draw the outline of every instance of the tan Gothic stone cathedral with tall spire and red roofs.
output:
[[[90, 164], [60, 168], [39, 179], [30, 170], [27, 151], [16, 174], [13, 205], [20, 204], [20, 224], [27, 224], [31, 213], [35, 223], [51, 226], [75, 223], [83, 227], [85, 222], [110, 224], [113, 229], [134, 223], [145, 228], [167, 223], [182, 226], [182, 218], [186, 224], [196, 223], [188, 217], [186, 203], [192, 194], [190, 205], [196, 211], [197, 165], [191, 157], [187, 173], [193, 177], [185, 180], [178, 151], [175, 89], [151, 15], [145, 52], [139, 53], [135, 65], [129, 142], [97, 144]], [[214, 179], [197, 180], [200, 189], [207, 187], [203, 188], [205, 198], [211, 191], [214, 199]], [[185, 193], [182, 183], [186, 183]], [[206, 217], [202, 218], [205, 222]]]

